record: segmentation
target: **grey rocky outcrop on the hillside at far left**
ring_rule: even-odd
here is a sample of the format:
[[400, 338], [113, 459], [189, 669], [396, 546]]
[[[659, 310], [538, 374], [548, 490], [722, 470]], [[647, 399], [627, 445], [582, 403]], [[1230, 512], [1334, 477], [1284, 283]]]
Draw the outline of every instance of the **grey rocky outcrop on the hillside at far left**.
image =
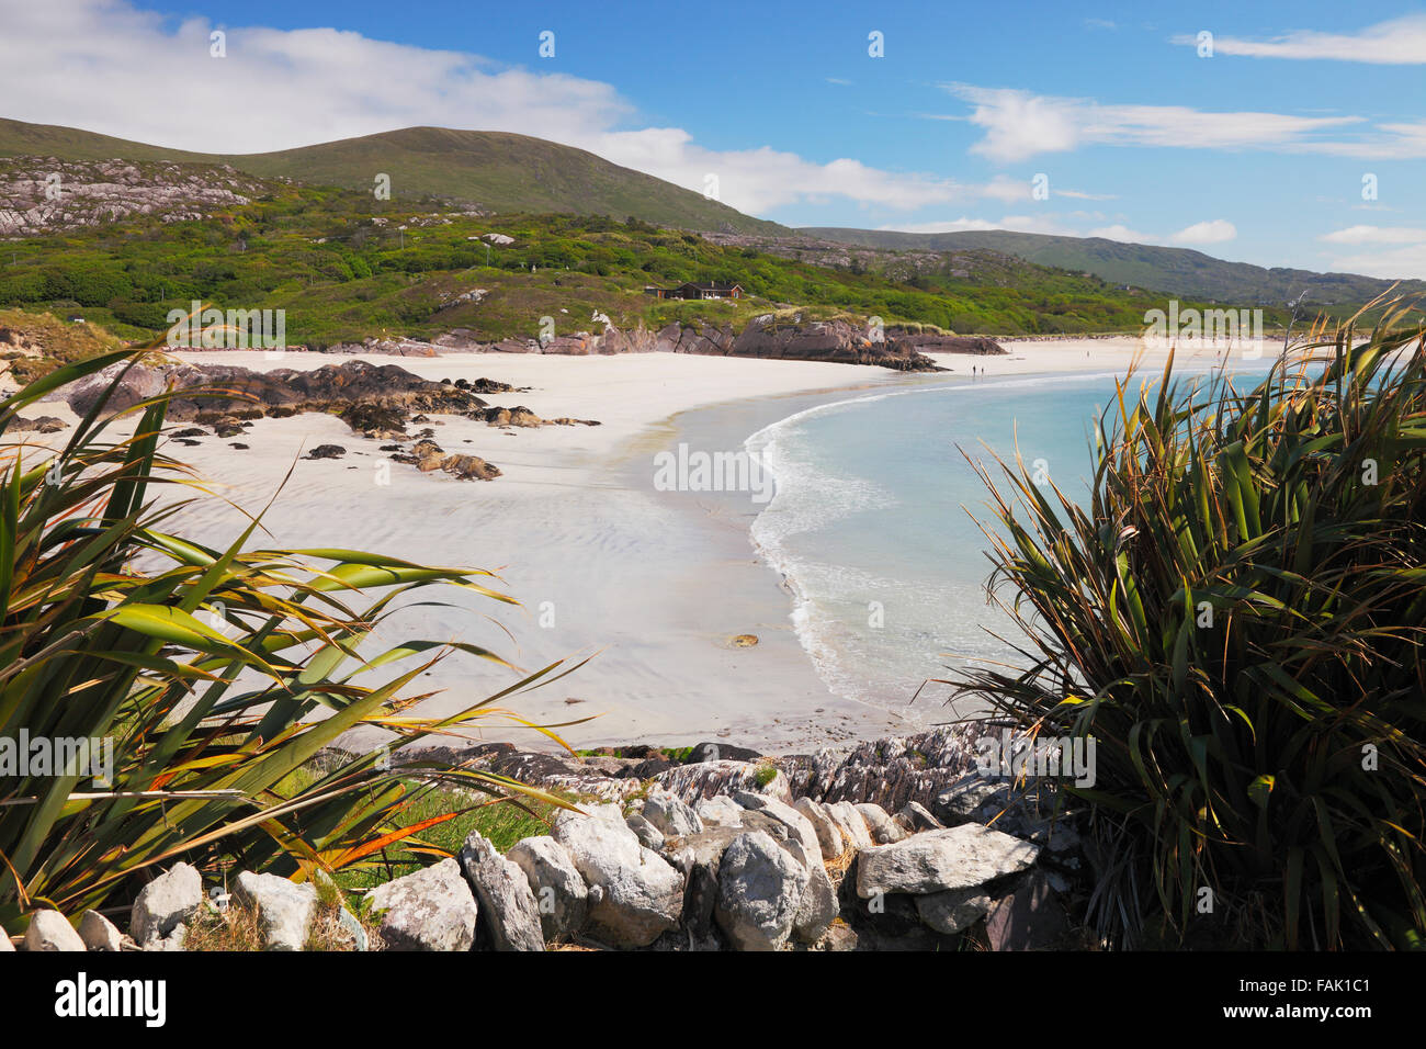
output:
[[207, 218], [262, 193], [262, 183], [222, 164], [127, 160], [0, 158], [0, 235], [31, 237], [154, 216]]

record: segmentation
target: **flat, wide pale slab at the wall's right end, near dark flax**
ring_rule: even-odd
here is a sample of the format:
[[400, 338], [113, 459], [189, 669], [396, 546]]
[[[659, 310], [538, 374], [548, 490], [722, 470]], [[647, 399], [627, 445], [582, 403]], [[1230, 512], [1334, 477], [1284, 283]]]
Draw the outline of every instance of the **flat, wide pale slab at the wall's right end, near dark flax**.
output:
[[857, 853], [857, 895], [971, 889], [1035, 862], [1040, 848], [980, 824], [927, 831]]

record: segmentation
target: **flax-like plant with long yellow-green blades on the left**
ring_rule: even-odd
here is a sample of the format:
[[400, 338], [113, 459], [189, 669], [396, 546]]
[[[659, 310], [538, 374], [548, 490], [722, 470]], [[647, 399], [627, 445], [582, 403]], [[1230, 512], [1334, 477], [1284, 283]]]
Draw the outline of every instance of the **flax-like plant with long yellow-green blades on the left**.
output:
[[[0, 434], [46, 392], [125, 358], [110, 351], [30, 384], [0, 402]], [[294, 776], [358, 725], [408, 742], [519, 721], [496, 704], [555, 667], [449, 718], [411, 716], [402, 689], [442, 655], [508, 664], [469, 644], [358, 648], [412, 591], [461, 587], [513, 605], [489, 572], [352, 549], [248, 551], [261, 515], [227, 549], [171, 534], [187, 501], [160, 502], [151, 487], [197, 482], [160, 448], [164, 397], [133, 410], [124, 440], [108, 438], [101, 408], [57, 457], [16, 442], [0, 457], [0, 736], [113, 741], [107, 782], [87, 762], [60, 775], [0, 769], [0, 923], [23, 928], [39, 905], [76, 913], [123, 899], [147, 868], [178, 858], [298, 879], [371, 865], [459, 815], [398, 819], [438, 781], [563, 805], [503, 776], [379, 752], [328, 752], [318, 775]], [[372, 604], [349, 604], [372, 589]], [[362, 684], [392, 667], [385, 684]]]

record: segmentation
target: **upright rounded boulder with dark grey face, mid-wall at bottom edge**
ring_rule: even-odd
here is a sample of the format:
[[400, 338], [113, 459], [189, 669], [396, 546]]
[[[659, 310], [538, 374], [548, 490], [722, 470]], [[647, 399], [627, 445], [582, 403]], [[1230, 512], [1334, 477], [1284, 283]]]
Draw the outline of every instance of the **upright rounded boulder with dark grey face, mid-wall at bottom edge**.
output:
[[717, 872], [719, 928], [737, 951], [776, 951], [791, 936], [810, 873], [761, 831], [740, 833]]

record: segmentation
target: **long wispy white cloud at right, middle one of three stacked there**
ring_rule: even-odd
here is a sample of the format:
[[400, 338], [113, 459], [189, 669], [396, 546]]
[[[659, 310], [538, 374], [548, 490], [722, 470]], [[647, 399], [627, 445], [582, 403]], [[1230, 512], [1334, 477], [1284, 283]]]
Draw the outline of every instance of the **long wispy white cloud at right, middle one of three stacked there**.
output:
[[[970, 103], [971, 124], [985, 130], [973, 153], [1017, 163], [1041, 153], [1081, 146], [1155, 146], [1175, 148], [1275, 148], [1339, 156], [1426, 156], [1426, 121], [1382, 124], [1359, 140], [1329, 140], [1328, 131], [1365, 123], [1363, 117], [1299, 117], [1283, 113], [1209, 113], [1186, 106], [1108, 106], [1092, 98], [1032, 94], [1012, 87], [945, 84]], [[948, 117], [960, 118], [960, 117]]]

